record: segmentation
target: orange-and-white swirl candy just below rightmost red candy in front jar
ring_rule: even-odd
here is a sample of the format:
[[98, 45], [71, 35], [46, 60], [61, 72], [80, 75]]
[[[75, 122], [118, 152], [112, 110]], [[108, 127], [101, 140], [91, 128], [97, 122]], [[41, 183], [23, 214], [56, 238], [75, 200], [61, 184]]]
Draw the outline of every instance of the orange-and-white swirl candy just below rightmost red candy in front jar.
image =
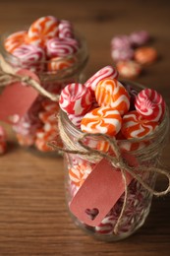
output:
[[143, 138], [157, 126], [158, 122], [146, 120], [137, 110], [133, 110], [123, 116], [121, 131], [126, 139]]

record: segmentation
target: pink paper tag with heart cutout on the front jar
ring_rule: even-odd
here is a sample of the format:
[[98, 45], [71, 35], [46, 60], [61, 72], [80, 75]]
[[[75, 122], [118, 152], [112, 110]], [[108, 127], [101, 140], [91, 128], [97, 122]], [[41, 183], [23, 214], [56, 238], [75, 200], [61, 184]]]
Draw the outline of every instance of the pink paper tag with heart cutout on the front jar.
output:
[[[127, 185], [133, 177], [126, 172]], [[111, 208], [125, 191], [120, 170], [114, 168], [108, 160], [101, 160], [85, 179], [70, 204], [71, 212], [85, 224], [95, 226], [101, 223]], [[90, 220], [87, 212], [97, 211]]]

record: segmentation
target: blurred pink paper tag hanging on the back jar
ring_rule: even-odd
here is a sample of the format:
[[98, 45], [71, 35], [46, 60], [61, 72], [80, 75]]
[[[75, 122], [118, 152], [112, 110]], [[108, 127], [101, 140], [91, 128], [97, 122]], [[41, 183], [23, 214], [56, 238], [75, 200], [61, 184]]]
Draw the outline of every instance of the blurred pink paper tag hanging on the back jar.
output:
[[[37, 76], [28, 70], [20, 70], [18, 74], [29, 76], [39, 82]], [[21, 82], [6, 86], [0, 95], [0, 120], [14, 123], [28, 112], [37, 96], [36, 90]]]

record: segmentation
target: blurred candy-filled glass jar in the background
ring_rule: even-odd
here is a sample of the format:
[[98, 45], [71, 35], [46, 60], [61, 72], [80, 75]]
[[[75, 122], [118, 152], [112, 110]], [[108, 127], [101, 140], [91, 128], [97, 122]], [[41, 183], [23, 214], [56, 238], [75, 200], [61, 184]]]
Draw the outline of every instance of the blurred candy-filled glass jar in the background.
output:
[[[85, 38], [69, 21], [53, 16], [41, 17], [27, 29], [3, 34], [1, 53], [13, 68], [35, 74], [41, 87], [55, 95], [68, 83], [80, 81], [88, 57]], [[37, 96], [13, 125], [19, 144], [51, 151], [46, 142], [57, 136], [58, 109], [58, 103]]]

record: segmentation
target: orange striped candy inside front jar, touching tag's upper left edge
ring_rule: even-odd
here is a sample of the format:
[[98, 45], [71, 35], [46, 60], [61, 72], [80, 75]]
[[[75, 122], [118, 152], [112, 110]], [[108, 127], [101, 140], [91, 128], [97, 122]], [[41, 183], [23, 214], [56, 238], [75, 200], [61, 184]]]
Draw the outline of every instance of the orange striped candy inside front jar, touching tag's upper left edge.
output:
[[69, 169], [69, 177], [76, 186], [80, 187], [84, 183], [91, 170], [92, 168], [85, 163], [75, 164]]

